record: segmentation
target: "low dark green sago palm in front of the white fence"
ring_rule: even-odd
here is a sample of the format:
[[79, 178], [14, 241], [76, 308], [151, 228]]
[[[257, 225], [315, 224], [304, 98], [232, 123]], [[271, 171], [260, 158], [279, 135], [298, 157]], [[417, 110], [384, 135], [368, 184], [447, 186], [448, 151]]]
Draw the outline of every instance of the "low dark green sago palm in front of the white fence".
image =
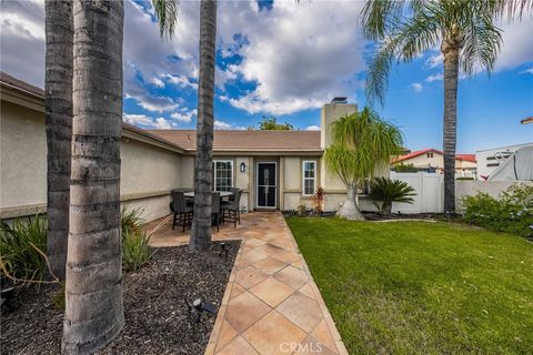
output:
[[393, 202], [413, 203], [414, 189], [401, 180], [375, 178], [370, 185], [370, 197], [381, 202], [380, 212], [391, 213]]

